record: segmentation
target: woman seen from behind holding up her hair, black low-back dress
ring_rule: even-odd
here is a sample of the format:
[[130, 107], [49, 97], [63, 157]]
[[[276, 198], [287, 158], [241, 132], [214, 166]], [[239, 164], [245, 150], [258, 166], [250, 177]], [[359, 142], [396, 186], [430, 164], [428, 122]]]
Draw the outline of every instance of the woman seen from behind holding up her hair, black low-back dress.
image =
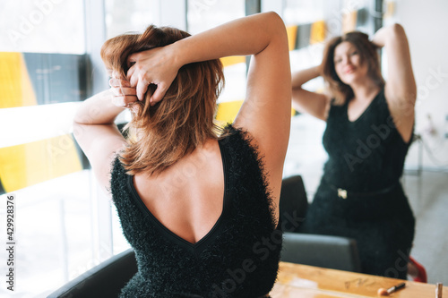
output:
[[[110, 190], [138, 273], [122, 297], [259, 297], [277, 276], [289, 141], [286, 30], [275, 13], [195, 36], [149, 27], [101, 50], [112, 90], [87, 99], [76, 140]], [[213, 123], [227, 55], [253, 55], [234, 123]], [[272, 63], [274, 61], [275, 63]], [[114, 120], [133, 113], [128, 139]]]

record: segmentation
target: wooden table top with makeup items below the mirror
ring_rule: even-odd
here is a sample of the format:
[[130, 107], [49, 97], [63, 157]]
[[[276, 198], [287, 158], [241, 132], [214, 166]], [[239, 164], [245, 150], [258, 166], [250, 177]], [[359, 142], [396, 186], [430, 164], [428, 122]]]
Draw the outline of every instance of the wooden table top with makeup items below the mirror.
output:
[[[379, 288], [390, 288], [403, 280], [280, 262], [272, 298], [356, 298], [380, 297]], [[435, 285], [406, 282], [406, 287], [391, 294], [394, 298], [435, 298]], [[386, 297], [386, 296], [381, 296]], [[444, 296], [448, 287], [444, 286]]]

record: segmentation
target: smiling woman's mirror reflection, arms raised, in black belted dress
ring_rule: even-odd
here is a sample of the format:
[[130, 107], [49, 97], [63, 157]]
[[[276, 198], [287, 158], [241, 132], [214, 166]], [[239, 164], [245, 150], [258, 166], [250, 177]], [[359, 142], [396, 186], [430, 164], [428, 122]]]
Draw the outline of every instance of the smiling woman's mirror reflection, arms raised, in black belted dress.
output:
[[[383, 81], [377, 48], [387, 55]], [[329, 95], [302, 89], [322, 75]], [[301, 230], [351, 237], [364, 273], [406, 279], [415, 220], [399, 181], [412, 140], [416, 83], [401, 25], [332, 38], [323, 63], [292, 76], [293, 101], [326, 121], [328, 161]]]

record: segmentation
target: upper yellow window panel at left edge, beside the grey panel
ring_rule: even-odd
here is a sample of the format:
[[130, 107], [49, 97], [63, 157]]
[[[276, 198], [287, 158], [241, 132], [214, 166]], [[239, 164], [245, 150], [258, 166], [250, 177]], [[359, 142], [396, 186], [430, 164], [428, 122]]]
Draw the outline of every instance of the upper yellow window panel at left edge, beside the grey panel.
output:
[[0, 52], [0, 108], [36, 104], [36, 95], [22, 54]]

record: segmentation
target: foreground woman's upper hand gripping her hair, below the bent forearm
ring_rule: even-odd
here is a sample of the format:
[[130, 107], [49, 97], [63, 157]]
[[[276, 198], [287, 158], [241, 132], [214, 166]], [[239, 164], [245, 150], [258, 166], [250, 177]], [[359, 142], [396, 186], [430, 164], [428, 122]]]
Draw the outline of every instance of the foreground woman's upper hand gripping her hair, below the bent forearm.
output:
[[182, 66], [176, 64], [170, 48], [169, 46], [155, 47], [134, 53], [128, 58], [128, 64], [132, 66], [127, 72], [127, 80], [131, 87], [136, 88], [139, 100], [144, 98], [150, 84], [157, 85], [157, 89], [150, 98], [151, 106], [162, 100]]

